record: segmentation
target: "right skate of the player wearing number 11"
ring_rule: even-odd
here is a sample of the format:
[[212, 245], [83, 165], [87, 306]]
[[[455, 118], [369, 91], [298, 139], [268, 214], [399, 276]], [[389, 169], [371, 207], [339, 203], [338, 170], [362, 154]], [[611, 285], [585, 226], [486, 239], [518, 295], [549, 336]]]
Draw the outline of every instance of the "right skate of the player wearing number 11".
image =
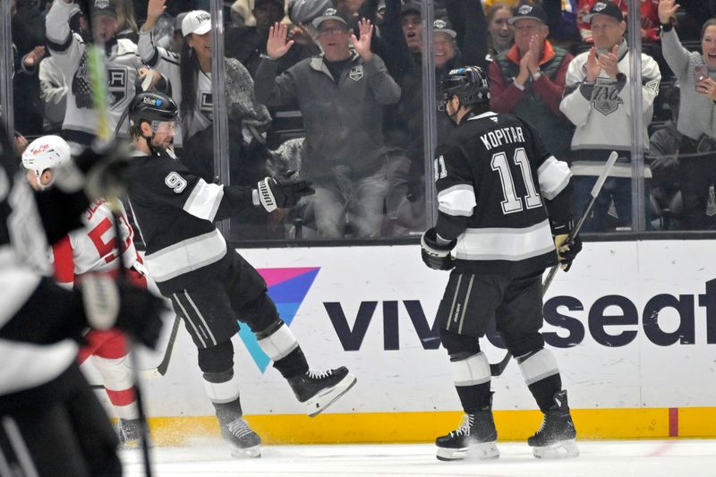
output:
[[540, 430], [527, 439], [538, 459], [558, 459], [579, 456], [575, 444], [576, 430], [567, 405], [567, 391], [554, 395], [554, 405], [544, 413]]

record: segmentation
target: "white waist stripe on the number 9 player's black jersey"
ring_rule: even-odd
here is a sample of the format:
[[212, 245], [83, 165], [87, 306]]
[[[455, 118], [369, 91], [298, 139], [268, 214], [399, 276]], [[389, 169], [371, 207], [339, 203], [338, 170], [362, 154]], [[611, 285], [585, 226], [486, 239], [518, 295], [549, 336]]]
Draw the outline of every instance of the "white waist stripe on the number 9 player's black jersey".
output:
[[150, 253], [145, 262], [154, 281], [166, 282], [217, 262], [225, 255], [224, 236], [218, 230], [212, 230]]

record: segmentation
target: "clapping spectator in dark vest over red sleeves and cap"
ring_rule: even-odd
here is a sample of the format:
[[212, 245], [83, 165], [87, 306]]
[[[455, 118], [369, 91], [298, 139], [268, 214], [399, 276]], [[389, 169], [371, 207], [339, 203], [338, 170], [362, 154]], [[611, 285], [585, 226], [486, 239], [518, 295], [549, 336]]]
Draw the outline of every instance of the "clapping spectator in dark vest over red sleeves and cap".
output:
[[567, 158], [574, 128], [559, 111], [559, 101], [572, 55], [547, 39], [550, 28], [541, 6], [524, 4], [509, 21], [515, 46], [490, 64], [490, 108], [537, 125], [547, 150]]

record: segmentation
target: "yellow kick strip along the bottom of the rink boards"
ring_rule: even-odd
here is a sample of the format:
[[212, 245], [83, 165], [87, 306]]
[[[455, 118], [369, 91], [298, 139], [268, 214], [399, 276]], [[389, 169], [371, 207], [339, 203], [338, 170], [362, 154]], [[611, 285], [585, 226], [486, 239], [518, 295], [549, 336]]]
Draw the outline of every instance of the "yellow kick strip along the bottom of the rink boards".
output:
[[[660, 409], [575, 409], [578, 439], [664, 439], [716, 437], [716, 407]], [[431, 442], [456, 429], [462, 413], [346, 413], [246, 416], [265, 444]], [[500, 440], [527, 439], [539, 429], [538, 411], [495, 411]], [[159, 446], [179, 446], [218, 437], [217, 419], [149, 418]]]

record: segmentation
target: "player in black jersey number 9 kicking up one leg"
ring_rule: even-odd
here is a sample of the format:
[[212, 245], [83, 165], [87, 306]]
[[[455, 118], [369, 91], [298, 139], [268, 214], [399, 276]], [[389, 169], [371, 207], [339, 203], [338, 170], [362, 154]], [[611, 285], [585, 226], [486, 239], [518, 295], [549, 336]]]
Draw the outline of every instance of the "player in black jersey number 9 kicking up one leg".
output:
[[301, 346], [255, 268], [228, 246], [214, 220], [258, 207], [266, 212], [293, 207], [313, 193], [305, 181], [282, 183], [266, 178], [257, 188], [206, 183], [192, 175], [167, 146], [178, 117], [175, 102], [161, 93], [141, 93], [129, 109], [136, 149], [129, 202], [147, 251], [145, 263], [159, 291], [199, 350], [199, 368], [216, 408], [222, 436], [234, 456], [260, 456], [260, 438], [243, 421], [234, 377], [231, 337], [237, 319], [256, 334], [260, 348], [286, 378], [296, 398], [314, 416], [352, 388], [345, 367], [311, 371]]

